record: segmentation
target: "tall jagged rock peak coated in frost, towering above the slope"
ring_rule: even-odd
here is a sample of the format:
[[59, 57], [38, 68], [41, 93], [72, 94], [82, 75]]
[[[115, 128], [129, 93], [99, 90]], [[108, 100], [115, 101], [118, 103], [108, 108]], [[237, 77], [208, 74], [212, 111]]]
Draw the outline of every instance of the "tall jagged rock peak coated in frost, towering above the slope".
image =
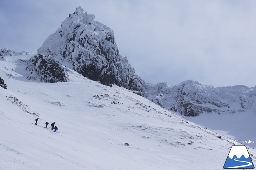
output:
[[119, 55], [113, 30], [94, 18], [81, 7], [76, 8], [37, 52], [52, 55], [63, 66], [107, 86], [145, 91], [143, 80], [135, 77], [127, 58]]

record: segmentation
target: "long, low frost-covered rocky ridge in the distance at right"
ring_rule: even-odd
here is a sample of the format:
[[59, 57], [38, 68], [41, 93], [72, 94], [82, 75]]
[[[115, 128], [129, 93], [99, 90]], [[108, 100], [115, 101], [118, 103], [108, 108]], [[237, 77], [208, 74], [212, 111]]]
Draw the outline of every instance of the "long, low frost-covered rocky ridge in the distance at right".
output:
[[149, 100], [185, 116], [234, 114], [256, 107], [256, 87], [242, 85], [216, 88], [189, 80], [175, 86], [149, 85], [147, 92]]

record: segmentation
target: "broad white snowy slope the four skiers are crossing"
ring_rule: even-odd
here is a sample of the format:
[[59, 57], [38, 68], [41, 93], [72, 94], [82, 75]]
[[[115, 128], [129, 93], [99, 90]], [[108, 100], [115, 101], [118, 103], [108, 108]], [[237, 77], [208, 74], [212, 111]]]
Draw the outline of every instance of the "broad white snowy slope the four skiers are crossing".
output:
[[[69, 82], [28, 80], [19, 59], [31, 57], [0, 61], [7, 85], [0, 87], [0, 169], [222, 169], [229, 138], [68, 68]], [[44, 128], [46, 121], [59, 133]], [[256, 162], [255, 149], [247, 148]]]

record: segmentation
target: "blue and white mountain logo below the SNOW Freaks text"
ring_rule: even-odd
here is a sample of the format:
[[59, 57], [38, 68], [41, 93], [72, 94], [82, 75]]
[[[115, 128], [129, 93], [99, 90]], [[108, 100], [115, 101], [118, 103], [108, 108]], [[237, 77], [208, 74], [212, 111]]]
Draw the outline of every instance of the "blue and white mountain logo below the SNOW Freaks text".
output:
[[233, 145], [223, 168], [254, 169], [251, 157], [245, 145]]

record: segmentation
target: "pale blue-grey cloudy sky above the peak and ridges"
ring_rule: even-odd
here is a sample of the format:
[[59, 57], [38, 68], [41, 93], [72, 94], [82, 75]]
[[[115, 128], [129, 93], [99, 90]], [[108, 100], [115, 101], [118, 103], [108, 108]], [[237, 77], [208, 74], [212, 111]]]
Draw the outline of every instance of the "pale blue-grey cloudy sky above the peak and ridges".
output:
[[36, 53], [78, 6], [147, 83], [256, 85], [255, 0], [1, 0], [0, 48]]

